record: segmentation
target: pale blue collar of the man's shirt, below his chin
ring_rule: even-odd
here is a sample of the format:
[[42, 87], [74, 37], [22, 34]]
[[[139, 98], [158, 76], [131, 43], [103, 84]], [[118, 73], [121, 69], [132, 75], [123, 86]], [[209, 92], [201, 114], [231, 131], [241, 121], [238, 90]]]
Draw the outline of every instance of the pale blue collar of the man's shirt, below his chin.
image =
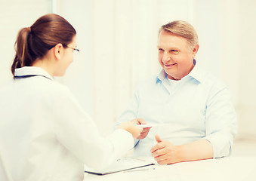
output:
[[[160, 72], [159, 72], [159, 75], [156, 76], [156, 84], [159, 82], [159, 81], [163, 81], [165, 78], [167, 77], [167, 74], [165, 72], [164, 69], [162, 69]], [[202, 69], [199, 67], [198, 63], [196, 62], [196, 65], [194, 66], [194, 68], [191, 70], [191, 72], [186, 75], [184, 78], [187, 78], [187, 77], [191, 77], [191, 78], [194, 78], [196, 79], [197, 81], [199, 82], [202, 82], [204, 77], [205, 77], [205, 74], [202, 72]], [[182, 79], [184, 79], [182, 78]]]

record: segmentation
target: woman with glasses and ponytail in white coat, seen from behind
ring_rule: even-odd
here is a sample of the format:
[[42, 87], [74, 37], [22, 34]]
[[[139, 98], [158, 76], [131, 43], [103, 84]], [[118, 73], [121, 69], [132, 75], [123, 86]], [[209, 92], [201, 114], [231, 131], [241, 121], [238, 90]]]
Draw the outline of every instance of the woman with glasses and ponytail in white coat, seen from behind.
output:
[[[106, 167], [140, 136], [136, 121], [103, 138], [69, 89], [64, 75], [76, 49], [76, 30], [56, 14], [20, 29], [11, 66], [14, 80], [0, 89], [0, 180], [83, 180], [84, 164]], [[1, 170], [2, 168], [2, 170]]]

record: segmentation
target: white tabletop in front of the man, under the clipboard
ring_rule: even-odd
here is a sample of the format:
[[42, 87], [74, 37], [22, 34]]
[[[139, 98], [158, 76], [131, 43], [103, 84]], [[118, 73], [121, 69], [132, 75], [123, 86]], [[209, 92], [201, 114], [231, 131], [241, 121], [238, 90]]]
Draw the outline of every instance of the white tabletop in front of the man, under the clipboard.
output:
[[[152, 158], [148, 158], [152, 159]], [[145, 170], [149, 168], [149, 170]], [[256, 157], [228, 157], [189, 161], [170, 165], [153, 165], [133, 172], [104, 176], [85, 174], [88, 181], [256, 181]]]

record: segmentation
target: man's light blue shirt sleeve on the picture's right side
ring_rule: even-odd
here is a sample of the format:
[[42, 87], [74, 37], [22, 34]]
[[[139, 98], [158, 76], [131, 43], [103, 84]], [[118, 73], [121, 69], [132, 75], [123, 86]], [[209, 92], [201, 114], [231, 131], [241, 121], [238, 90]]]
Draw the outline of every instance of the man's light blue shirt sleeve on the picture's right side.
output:
[[205, 140], [214, 151], [214, 158], [230, 155], [236, 135], [236, 112], [227, 87], [213, 88], [206, 105]]

